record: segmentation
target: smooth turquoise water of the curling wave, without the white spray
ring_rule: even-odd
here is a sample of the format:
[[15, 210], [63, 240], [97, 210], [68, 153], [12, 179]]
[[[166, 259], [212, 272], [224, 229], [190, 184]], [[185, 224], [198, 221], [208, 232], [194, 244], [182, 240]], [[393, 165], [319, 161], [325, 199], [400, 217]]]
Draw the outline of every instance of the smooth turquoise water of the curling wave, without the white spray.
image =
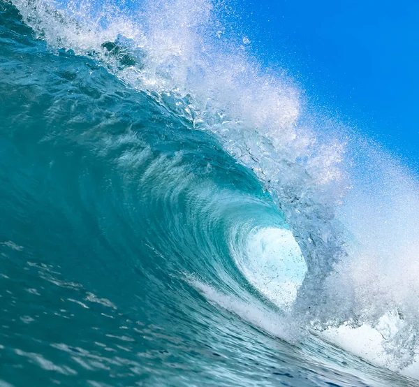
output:
[[122, 37], [101, 42], [112, 63], [54, 48], [15, 3], [26, 21], [0, 2], [0, 386], [416, 384], [300, 332], [341, 253], [313, 260], [337, 239], [307, 251], [260, 156], [179, 113], [191, 96], [133, 87], [145, 59]]

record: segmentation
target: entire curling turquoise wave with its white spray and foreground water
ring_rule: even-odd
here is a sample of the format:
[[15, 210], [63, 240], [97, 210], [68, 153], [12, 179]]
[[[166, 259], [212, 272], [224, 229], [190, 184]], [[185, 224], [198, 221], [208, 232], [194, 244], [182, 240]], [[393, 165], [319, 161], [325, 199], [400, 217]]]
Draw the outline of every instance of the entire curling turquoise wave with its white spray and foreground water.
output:
[[0, 0], [0, 387], [419, 385], [418, 176], [240, 12]]

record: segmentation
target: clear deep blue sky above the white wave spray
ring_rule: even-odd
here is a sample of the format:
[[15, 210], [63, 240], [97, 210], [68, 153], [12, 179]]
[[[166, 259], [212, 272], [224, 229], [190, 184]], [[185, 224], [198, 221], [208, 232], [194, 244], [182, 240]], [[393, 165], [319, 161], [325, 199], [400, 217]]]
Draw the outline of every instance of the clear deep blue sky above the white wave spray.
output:
[[253, 43], [309, 98], [416, 163], [419, 1], [242, 0]]

